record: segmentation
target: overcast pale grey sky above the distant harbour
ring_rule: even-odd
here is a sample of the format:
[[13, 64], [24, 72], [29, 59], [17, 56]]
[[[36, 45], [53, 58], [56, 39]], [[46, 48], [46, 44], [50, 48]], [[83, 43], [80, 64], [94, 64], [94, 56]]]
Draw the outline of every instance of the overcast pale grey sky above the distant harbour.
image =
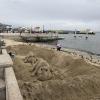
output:
[[100, 0], [0, 0], [0, 22], [100, 31]]

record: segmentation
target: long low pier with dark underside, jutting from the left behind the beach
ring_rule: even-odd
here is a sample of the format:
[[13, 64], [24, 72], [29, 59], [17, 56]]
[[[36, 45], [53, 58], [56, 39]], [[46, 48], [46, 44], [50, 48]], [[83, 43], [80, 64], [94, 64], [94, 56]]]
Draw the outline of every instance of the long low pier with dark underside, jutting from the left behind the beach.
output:
[[2, 37], [20, 37], [22, 40], [26, 42], [49, 42], [49, 41], [55, 41], [60, 38], [58, 36], [58, 33], [0, 33], [0, 36]]

